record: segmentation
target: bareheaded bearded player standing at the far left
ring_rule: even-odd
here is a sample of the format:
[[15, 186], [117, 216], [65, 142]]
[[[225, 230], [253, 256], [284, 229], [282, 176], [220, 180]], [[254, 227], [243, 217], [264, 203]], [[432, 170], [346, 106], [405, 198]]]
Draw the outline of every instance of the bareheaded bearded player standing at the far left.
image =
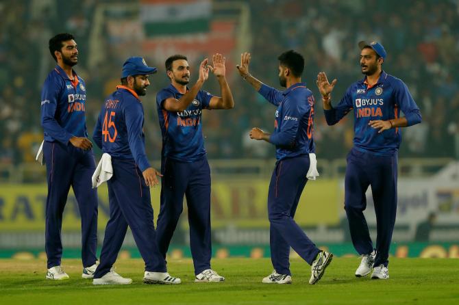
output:
[[95, 161], [86, 129], [86, 86], [72, 68], [78, 63], [77, 43], [73, 35], [62, 33], [54, 36], [49, 40], [49, 51], [58, 64], [49, 73], [41, 94], [41, 124], [45, 131], [42, 152], [48, 183], [45, 209], [46, 278], [69, 278], [60, 267], [60, 231], [71, 186], [82, 217], [82, 277], [92, 278], [97, 260], [97, 191], [92, 189], [90, 183]]

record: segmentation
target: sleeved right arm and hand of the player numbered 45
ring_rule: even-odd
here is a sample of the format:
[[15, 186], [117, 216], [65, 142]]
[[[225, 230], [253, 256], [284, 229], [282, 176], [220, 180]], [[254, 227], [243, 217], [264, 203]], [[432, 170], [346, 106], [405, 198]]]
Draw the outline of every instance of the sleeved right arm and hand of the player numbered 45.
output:
[[149, 187], [154, 187], [159, 183], [157, 176], [162, 175], [154, 168], [151, 168], [147, 159], [147, 154], [145, 153], [145, 146], [142, 142], [142, 107], [140, 104], [134, 104], [130, 107], [126, 107], [124, 115], [127, 128], [127, 142], [129, 142], [129, 148], [132, 152], [132, 156], [134, 157], [138, 168], [142, 171], [145, 184]]

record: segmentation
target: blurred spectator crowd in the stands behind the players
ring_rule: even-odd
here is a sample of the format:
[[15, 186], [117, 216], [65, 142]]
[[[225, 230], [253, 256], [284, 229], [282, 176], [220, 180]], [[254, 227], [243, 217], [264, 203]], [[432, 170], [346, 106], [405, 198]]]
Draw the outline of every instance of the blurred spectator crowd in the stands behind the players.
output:
[[[91, 64], [89, 37], [97, 0], [3, 0], [0, 2], [0, 163], [34, 161], [42, 141], [40, 90], [54, 66], [48, 40], [54, 34], [75, 34], [79, 64], [86, 80], [86, 115], [92, 134], [103, 98], [114, 90], [125, 55], [112, 51], [116, 41], [104, 33], [103, 64]], [[384, 44], [384, 70], [402, 79], [421, 108], [423, 123], [403, 131], [401, 157], [454, 157], [459, 133], [459, 8], [457, 1], [274, 1], [250, 0], [252, 71], [261, 81], [279, 88], [275, 59], [295, 49], [306, 59], [303, 81], [317, 98], [314, 139], [322, 159], [345, 157], [351, 147], [353, 119], [335, 128], [326, 126], [315, 79], [319, 71], [338, 79], [334, 103], [360, 74], [359, 40]], [[135, 54], [132, 54], [135, 55]], [[234, 60], [238, 54], [227, 55]], [[190, 63], [193, 66], [193, 63]], [[162, 62], [149, 62], [164, 70]], [[454, 72], [456, 71], [456, 72]], [[236, 73], [232, 70], [232, 74]], [[192, 74], [193, 77], [197, 77]], [[161, 138], [154, 103], [167, 83], [160, 72], [145, 96], [147, 153], [159, 159]], [[236, 107], [204, 115], [210, 159], [273, 157], [269, 146], [253, 146], [253, 126], [273, 129], [274, 108], [253, 92], [238, 75], [229, 76]], [[212, 84], [210, 84], [212, 87]], [[209, 88], [210, 92], [218, 92]]]

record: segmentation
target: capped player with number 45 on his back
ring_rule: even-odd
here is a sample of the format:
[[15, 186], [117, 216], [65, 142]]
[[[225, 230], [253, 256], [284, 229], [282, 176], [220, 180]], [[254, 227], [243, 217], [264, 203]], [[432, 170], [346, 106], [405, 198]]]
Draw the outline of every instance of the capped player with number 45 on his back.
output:
[[121, 85], [116, 87], [101, 107], [94, 135], [97, 146], [111, 157], [112, 177], [108, 183], [110, 220], [106, 226], [100, 264], [93, 284], [130, 284], [114, 271], [127, 226], [145, 261], [147, 284], [179, 284], [166, 271], [166, 262], [156, 246], [149, 187], [158, 184], [159, 172], [151, 168], [145, 154], [142, 131], [144, 114], [139, 96], [147, 94], [149, 75], [156, 68], [147, 66], [142, 57], [129, 57], [123, 64]]

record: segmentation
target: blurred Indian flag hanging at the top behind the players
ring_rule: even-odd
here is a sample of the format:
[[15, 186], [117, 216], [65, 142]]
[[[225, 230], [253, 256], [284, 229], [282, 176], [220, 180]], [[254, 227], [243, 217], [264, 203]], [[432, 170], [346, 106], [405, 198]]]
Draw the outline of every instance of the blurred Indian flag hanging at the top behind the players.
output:
[[140, 20], [146, 37], [206, 33], [209, 31], [210, 0], [142, 0]]

